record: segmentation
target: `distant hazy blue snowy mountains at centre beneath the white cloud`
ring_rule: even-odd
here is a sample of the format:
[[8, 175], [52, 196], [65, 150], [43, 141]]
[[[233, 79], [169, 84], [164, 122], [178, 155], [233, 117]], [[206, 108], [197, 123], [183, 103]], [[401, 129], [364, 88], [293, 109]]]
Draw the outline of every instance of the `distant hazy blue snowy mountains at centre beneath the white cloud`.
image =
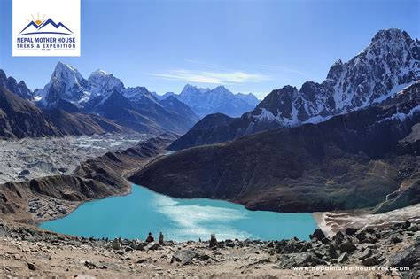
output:
[[180, 94], [167, 92], [163, 97], [172, 96], [191, 107], [199, 117], [216, 112], [224, 113], [231, 117], [237, 117], [244, 112], [249, 112], [258, 105], [260, 101], [253, 93], [233, 94], [224, 86], [214, 89], [201, 89], [191, 84], [185, 85]]

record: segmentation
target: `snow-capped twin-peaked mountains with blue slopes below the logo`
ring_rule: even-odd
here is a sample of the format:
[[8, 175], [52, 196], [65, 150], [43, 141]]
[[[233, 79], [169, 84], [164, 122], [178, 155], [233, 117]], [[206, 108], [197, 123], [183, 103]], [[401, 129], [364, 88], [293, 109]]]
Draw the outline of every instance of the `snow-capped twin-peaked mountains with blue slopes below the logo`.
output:
[[43, 108], [94, 113], [140, 132], [183, 134], [198, 116], [182, 102], [159, 100], [144, 87], [125, 88], [120, 79], [97, 70], [88, 79], [73, 66], [59, 62], [43, 89], [35, 90]]

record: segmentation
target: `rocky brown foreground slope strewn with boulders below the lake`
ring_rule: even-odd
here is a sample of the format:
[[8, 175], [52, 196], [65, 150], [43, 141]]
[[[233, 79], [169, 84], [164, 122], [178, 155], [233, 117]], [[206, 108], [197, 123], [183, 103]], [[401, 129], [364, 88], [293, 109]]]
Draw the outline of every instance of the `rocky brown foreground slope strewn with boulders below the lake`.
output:
[[[316, 229], [310, 237], [310, 241], [293, 238], [218, 242], [213, 238], [158, 244], [137, 239], [64, 236], [16, 223], [0, 223], [0, 274], [212, 278], [420, 275], [419, 223], [406, 221], [383, 229], [347, 228], [331, 238]], [[399, 267], [409, 271], [397, 270]]]

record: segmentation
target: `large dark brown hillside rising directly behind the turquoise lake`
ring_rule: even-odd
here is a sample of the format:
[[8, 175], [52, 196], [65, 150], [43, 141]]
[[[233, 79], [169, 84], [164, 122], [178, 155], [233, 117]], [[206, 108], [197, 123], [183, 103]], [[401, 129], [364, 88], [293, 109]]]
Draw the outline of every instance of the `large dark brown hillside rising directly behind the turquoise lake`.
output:
[[[222, 198], [259, 210], [375, 205], [387, 210], [419, 202], [418, 195], [407, 195], [408, 190], [418, 193], [420, 184], [419, 122], [416, 83], [381, 105], [323, 123], [175, 152], [130, 180], [178, 198]], [[400, 187], [380, 209], [385, 196]]]

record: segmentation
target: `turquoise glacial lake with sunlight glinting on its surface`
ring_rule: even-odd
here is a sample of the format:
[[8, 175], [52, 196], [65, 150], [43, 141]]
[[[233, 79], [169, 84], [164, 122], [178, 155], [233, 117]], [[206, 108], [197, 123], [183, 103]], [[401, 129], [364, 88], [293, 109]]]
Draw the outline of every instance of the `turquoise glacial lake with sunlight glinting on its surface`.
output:
[[175, 241], [209, 239], [308, 239], [316, 229], [311, 213], [250, 211], [242, 205], [207, 198], [170, 198], [133, 185], [127, 196], [87, 202], [73, 213], [41, 225], [43, 229], [73, 236]]

